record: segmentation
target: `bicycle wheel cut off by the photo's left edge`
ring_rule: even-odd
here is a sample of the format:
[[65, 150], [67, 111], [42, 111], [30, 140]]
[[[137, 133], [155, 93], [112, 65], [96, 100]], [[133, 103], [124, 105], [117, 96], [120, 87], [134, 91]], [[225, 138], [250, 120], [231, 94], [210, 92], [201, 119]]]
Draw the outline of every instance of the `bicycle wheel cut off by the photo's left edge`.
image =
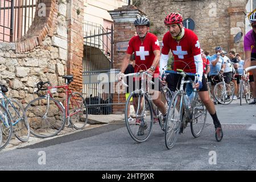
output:
[[[3, 123], [3, 121], [6, 122], [6, 120], [8, 125]], [[13, 125], [11, 124], [10, 113], [2, 104], [0, 104], [0, 125], [1, 125], [1, 133], [2, 133], [0, 150], [2, 150], [10, 142], [10, 139], [13, 135]]]

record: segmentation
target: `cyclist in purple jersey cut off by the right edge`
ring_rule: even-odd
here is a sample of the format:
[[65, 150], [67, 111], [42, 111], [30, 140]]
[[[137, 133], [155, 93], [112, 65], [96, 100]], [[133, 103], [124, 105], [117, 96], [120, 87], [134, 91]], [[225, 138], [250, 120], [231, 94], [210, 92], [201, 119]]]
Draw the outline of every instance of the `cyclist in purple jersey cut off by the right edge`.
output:
[[[244, 69], [256, 65], [256, 9], [248, 15], [248, 18], [253, 29], [247, 32], [243, 39], [243, 49], [245, 50]], [[256, 104], [256, 69], [251, 70], [251, 73], [253, 73], [253, 77], [251, 77], [250, 80], [254, 79], [254, 84], [251, 85], [253, 86], [254, 100], [249, 104]]]

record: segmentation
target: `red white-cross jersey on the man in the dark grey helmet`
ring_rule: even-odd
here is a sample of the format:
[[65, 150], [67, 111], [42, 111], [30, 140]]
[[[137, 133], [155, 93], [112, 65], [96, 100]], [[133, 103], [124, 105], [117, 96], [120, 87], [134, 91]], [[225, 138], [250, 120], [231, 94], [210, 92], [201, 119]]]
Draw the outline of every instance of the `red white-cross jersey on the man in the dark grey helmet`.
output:
[[[160, 46], [154, 34], [148, 32], [143, 41], [138, 35], [131, 38], [127, 53], [130, 55], [135, 54], [135, 72], [139, 72], [140, 70], [146, 71], [151, 67], [155, 58], [155, 50], [160, 50]], [[155, 73], [159, 73], [159, 67], [156, 67]]]

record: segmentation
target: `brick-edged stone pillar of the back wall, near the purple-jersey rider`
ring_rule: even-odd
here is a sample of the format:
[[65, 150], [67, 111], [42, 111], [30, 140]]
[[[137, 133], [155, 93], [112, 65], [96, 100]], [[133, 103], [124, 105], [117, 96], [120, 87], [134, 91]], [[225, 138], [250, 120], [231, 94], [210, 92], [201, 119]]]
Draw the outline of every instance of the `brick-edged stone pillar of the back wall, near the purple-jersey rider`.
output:
[[228, 13], [230, 16], [230, 40], [229, 40], [229, 50], [239, 53], [243, 58], [243, 37], [239, 43], [234, 43], [234, 36], [238, 32], [242, 32], [245, 35], [245, 17], [246, 10], [245, 6], [240, 7], [230, 7], [228, 8]]

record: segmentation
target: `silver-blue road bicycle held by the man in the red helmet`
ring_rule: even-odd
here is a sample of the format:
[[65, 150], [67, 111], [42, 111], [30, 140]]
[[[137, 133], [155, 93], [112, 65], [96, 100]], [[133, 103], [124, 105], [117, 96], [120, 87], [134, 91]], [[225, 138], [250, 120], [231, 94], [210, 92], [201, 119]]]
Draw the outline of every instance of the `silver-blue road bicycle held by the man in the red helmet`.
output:
[[[177, 71], [165, 71], [165, 73], [173, 73], [182, 76], [180, 88], [172, 97], [171, 104], [167, 112], [167, 121], [165, 125], [165, 143], [166, 147], [171, 149], [174, 147], [177, 140], [177, 135], [180, 133], [181, 125], [183, 125], [184, 132], [185, 127], [187, 127], [188, 123], [190, 123], [193, 137], [196, 138], [200, 136], [207, 118], [207, 109], [201, 102], [196, 89], [193, 89], [192, 93], [189, 93], [189, 96], [187, 95], [189, 92], [187, 85], [193, 84], [193, 81], [191, 78], [188, 78], [188, 80], [185, 81], [185, 77], [193, 76], [197, 79], [195, 73], [186, 73], [181, 69], [177, 69]], [[183, 89], [184, 84], [187, 84], [185, 91]], [[188, 101], [188, 99], [190, 101]]]

